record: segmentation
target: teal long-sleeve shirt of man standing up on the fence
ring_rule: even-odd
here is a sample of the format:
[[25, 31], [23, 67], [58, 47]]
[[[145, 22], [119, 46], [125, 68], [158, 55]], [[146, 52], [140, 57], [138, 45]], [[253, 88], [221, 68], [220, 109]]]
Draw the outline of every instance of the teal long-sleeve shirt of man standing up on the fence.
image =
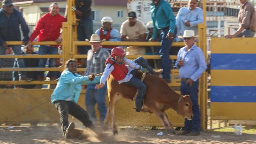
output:
[[175, 17], [169, 2], [160, 0], [156, 6], [152, 3], [150, 12], [154, 25], [152, 39], [156, 39], [158, 32], [168, 26], [169, 33], [174, 33]]

